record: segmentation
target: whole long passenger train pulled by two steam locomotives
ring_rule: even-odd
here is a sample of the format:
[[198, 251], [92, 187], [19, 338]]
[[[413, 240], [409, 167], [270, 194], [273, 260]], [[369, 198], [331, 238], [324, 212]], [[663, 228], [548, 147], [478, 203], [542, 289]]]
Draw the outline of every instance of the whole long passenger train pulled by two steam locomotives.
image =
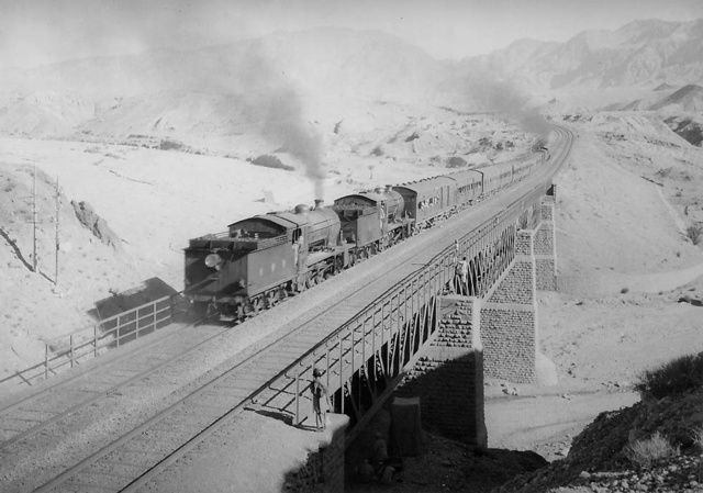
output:
[[341, 270], [392, 247], [524, 178], [549, 159], [542, 148], [522, 159], [467, 169], [230, 224], [189, 242], [185, 294], [196, 311], [223, 320], [252, 316]]

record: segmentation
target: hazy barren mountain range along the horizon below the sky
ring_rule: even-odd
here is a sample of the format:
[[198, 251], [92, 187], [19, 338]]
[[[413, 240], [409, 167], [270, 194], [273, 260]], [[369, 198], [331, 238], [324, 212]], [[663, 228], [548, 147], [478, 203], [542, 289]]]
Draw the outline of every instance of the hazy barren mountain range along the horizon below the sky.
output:
[[434, 59], [380, 32], [277, 33], [191, 52], [5, 70], [0, 131], [82, 139], [236, 135], [265, 123], [261, 108], [281, 90], [333, 105], [344, 98], [506, 113], [525, 104], [592, 107], [596, 91], [611, 108], [696, 111], [700, 88], [676, 91], [703, 85], [702, 49], [703, 20], [636, 21], [566, 43], [523, 40], [461, 61]]

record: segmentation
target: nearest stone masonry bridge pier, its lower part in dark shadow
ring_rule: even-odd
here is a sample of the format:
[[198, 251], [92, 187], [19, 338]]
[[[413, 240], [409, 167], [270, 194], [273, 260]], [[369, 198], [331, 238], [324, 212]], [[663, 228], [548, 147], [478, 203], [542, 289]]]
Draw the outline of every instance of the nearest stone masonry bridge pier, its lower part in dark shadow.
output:
[[478, 300], [465, 296], [442, 300], [436, 338], [393, 395], [420, 397], [423, 427], [484, 448], [488, 435], [477, 306]]

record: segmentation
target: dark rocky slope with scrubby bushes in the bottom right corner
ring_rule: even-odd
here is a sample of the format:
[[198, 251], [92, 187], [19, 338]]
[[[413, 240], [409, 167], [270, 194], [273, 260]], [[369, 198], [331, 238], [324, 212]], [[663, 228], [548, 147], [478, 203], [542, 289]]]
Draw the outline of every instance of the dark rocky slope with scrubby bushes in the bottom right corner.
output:
[[[495, 492], [700, 492], [702, 408], [703, 391], [699, 389], [603, 413], [574, 438], [566, 459], [518, 475]], [[669, 442], [671, 456], [643, 463], [643, 456], [629, 451], [637, 442], [657, 444], [654, 455], [667, 450]]]

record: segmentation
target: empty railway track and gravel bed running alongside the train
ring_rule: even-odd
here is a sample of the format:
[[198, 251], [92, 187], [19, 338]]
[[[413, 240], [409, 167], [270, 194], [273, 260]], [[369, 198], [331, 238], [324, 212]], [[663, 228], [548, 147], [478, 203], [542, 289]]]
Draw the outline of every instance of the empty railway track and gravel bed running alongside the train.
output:
[[[529, 183], [534, 187], [539, 179], [545, 179], [544, 176], [531, 178], [513, 187], [514, 193], [481, 202], [471, 212], [455, 216], [440, 227], [326, 281], [323, 287], [327, 289], [317, 287], [304, 292], [235, 330], [216, 326], [179, 327], [168, 339], [172, 341], [172, 352], [166, 350], [167, 341], [165, 347], [159, 344], [140, 349], [140, 355], [132, 350], [138, 356], [136, 359], [121, 357], [101, 371], [71, 377], [41, 396], [5, 407], [0, 411], [0, 424], [7, 418], [24, 425], [0, 444], [0, 489], [3, 492], [136, 490], [236, 415], [249, 403], [250, 395], [281, 369], [394, 283], [422, 269], [471, 225], [490, 219], [521, 190], [528, 190]], [[390, 256], [392, 262], [387, 261]], [[264, 326], [268, 326], [266, 333], [261, 330]], [[243, 343], [242, 335], [249, 330], [261, 332], [253, 344], [254, 339], [248, 340], [245, 350], [223, 358], [222, 352]], [[199, 339], [196, 334], [202, 339], [193, 344]], [[179, 354], [179, 344], [188, 349], [181, 347]], [[149, 358], [144, 358], [146, 352]], [[213, 356], [215, 352], [217, 357]], [[185, 384], [182, 380], [169, 383], [171, 371], [188, 372], [189, 362], [185, 359], [208, 357], [213, 358], [210, 371], [197, 374]], [[145, 361], [147, 359], [149, 361]], [[152, 359], [158, 361], [152, 362]], [[57, 394], [64, 395], [58, 399]], [[119, 411], [115, 413], [112, 406]], [[104, 416], [101, 417], [101, 413]], [[18, 416], [24, 417], [18, 419]], [[79, 447], [80, 435], [88, 432], [91, 445]], [[76, 435], [78, 439], [62, 440]], [[114, 436], [120, 438], [115, 440]], [[58, 445], [51, 446], [42, 460], [38, 450], [57, 438]], [[80, 451], [72, 452], [74, 447]], [[64, 455], [67, 450], [70, 453]], [[33, 468], [35, 473], [27, 474], [26, 466], [23, 469], [21, 462], [33, 456], [44, 466]]]

